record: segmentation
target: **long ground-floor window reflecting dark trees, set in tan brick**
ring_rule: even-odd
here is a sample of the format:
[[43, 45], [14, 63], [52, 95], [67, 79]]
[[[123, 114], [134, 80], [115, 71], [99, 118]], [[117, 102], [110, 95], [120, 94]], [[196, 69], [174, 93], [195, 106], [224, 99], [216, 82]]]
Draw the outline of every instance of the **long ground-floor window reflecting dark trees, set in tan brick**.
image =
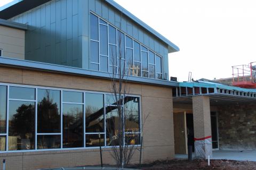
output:
[[[139, 145], [140, 98], [121, 98], [124, 143]], [[0, 84], [0, 152], [118, 145], [119, 118], [110, 94]]]

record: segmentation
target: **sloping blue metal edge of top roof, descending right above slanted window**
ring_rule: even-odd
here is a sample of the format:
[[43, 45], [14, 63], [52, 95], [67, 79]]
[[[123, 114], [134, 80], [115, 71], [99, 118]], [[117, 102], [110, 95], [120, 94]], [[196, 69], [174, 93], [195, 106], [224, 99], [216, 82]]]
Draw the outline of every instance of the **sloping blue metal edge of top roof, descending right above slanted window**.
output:
[[168, 40], [167, 38], [165, 38], [164, 36], [162, 36], [159, 32], [157, 32], [156, 30], [154, 30], [153, 28], [149, 27], [149, 25], [147, 25], [145, 22], [141, 21], [140, 19], [138, 19], [136, 16], [134, 16], [132, 13], [130, 13], [129, 11], [127, 11], [124, 7], [122, 7], [121, 5], [119, 5], [118, 3], [116, 3], [113, 0], [105, 0], [107, 3], [109, 3], [110, 5], [114, 6], [115, 8], [117, 8], [117, 10], [121, 11], [122, 13], [124, 13], [126, 16], [128, 16], [130, 19], [132, 19], [134, 22], [138, 23], [139, 25], [141, 25], [143, 28], [145, 28], [147, 31], [153, 33], [153, 35], [155, 35], [156, 37], [158, 37], [159, 39], [161, 39], [164, 43], [166, 43], [167, 45], [169, 45], [170, 47], [173, 48], [173, 50], [169, 49], [169, 53], [172, 52], [179, 52], [179, 47], [175, 44], [173, 44], [170, 40]]

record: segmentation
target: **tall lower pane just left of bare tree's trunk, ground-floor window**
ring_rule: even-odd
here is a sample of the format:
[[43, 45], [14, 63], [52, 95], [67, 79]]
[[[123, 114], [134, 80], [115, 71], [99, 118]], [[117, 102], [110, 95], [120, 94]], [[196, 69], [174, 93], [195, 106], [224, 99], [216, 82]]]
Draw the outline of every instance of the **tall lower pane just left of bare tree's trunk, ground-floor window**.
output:
[[119, 116], [116, 106], [106, 107], [106, 142], [107, 146], [118, 145]]

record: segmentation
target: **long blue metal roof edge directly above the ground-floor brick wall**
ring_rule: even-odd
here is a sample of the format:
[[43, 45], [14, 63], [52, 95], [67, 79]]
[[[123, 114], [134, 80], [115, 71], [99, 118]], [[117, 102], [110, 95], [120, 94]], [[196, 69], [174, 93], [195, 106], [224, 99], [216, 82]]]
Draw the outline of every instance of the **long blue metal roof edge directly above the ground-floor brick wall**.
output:
[[[50, 72], [84, 75], [87, 77], [101, 78], [101, 79], [111, 79], [112, 78], [111, 75], [113, 76], [113, 74], [106, 73], [106, 72], [91, 71], [91, 70], [85, 70], [77, 67], [62, 66], [57, 64], [19, 60], [16, 58], [8, 58], [8, 57], [0, 57], [0, 65], [22, 67], [22, 68], [27, 68], [31, 70], [44, 70], [44, 71], [50, 71]], [[149, 78], [133, 77], [133, 76], [127, 76], [127, 81], [141, 83], [141, 84], [156, 85], [156, 86], [166, 86], [166, 87], [179, 86], [179, 83], [174, 81], [157, 80], [157, 79], [149, 79]]]

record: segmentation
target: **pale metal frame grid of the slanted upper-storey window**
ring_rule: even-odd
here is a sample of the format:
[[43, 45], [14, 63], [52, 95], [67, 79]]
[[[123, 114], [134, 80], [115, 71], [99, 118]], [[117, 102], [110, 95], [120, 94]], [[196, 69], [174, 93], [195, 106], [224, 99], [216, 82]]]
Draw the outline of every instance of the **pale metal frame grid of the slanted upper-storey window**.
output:
[[[98, 32], [99, 40], [98, 40], [98, 41], [91, 39], [91, 29], [89, 30], [89, 37], [90, 37], [89, 50], [91, 49], [91, 48], [90, 48], [90, 46], [91, 46], [91, 41], [97, 41], [98, 44], [99, 44], [99, 56], [98, 56], [98, 57], [99, 57], [99, 63], [91, 62], [91, 58], [90, 58], [91, 52], [89, 52], [89, 70], [92, 70], [92, 69], [90, 69], [90, 64], [92, 63], [92, 64], [98, 64], [98, 66], [99, 66], [98, 71], [100, 71], [100, 72], [106, 72], [106, 71], [101, 71], [101, 70], [100, 70], [100, 56], [102, 56], [102, 55], [100, 54], [100, 24], [102, 24], [102, 25], [107, 25], [107, 31], [108, 31], [108, 32], [107, 32], [107, 37], [108, 37], [108, 44], [107, 44], [107, 46], [108, 46], [108, 56], [106, 56], [106, 57], [108, 57], [108, 72], [107, 72], [107, 73], [111, 73], [111, 72], [112, 72], [112, 71], [110, 70], [110, 67], [116, 67], [116, 68], [117, 68], [117, 66], [118, 66], [118, 65], [113, 66], [113, 65], [111, 65], [111, 63], [109, 62], [109, 58], [110, 58], [110, 56], [109, 56], [109, 55], [110, 55], [110, 54], [109, 54], [109, 45], [114, 45], [114, 46], [116, 46], [116, 54], [117, 54], [117, 44], [118, 44], [118, 42], [117, 42], [117, 32], [120, 31], [121, 33], [124, 34], [124, 49], [125, 49], [125, 51], [126, 51], [126, 48], [132, 49], [132, 63], [133, 63], [133, 65], [134, 65], [134, 62], [140, 63], [140, 76], [134, 76], [134, 75], [130, 75], [130, 76], [133, 76], [133, 77], [141, 77], [141, 78], [148, 78], [148, 79], [158, 79], [158, 74], [162, 74], [162, 75], [163, 75], [164, 65], [163, 65], [163, 56], [162, 56], [162, 55], [160, 55], [160, 54], [154, 52], [154, 50], [150, 49], [150, 48], [149, 48], [148, 46], [146, 46], [145, 44], [140, 43], [138, 40], [136, 40], [135, 38], [131, 37], [130, 35], [128, 35], [128, 34], [125, 33], [124, 31], [122, 31], [121, 29], [117, 28], [114, 24], [111, 24], [109, 21], [103, 19], [103, 18], [102, 18], [101, 16], [99, 16], [98, 14], [95, 14], [93, 11], [90, 11], [89, 14], [90, 14], [90, 15], [92, 14], [92, 15], [98, 17], [98, 30], [99, 30], [99, 32]], [[100, 20], [106, 22], [107, 24], [100, 23]], [[89, 24], [91, 24], [91, 23], [89, 23]], [[110, 25], [111, 27], [113, 27], [113, 28], [116, 29], [116, 44], [111, 44], [111, 43], [109, 43], [109, 25]], [[91, 28], [91, 27], [89, 27], [89, 28]], [[131, 47], [126, 47], [126, 36], [132, 39], [132, 48], [131, 48]], [[134, 41], [137, 42], [137, 43], [140, 45], [140, 62], [134, 60]], [[141, 67], [142, 67], [142, 61], [141, 61], [142, 58], [141, 58], [141, 52], [142, 52], [143, 50], [142, 50], [141, 46], [144, 46], [144, 47], [147, 48], [147, 50], [148, 50], [148, 51], [147, 51], [147, 55], [148, 55], [148, 71], [145, 71], [145, 72], [148, 73], [148, 77], [142, 77], [142, 68], [141, 68]], [[161, 57], [161, 70], [162, 70], [162, 73], [156, 72], [156, 63], [155, 63], [155, 78], [149, 78], [149, 65], [150, 65], [150, 64], [149, 64], [149, 54], [148, 54], [148, 53], [149, 53], [149, 50], [155, 54], [155, 59], [156, 59], [156, 55], [159, 56], [159, 57]], [[143, 51], [143, 52], [144, 52], [144, 51]], [[124, 57], [125, 57], [125, 54], [126, 54], [126, 52], [124, 53]], [[104, 56], [104, 55], [103, 55], [103, 56]], [[117, 57], [117, 56], [116, 56], [116, 59], [117, 59], [117, 62], [118, 62], [118, 57]], [[124, 60], [125, 75], [129, 75], [129, 74], [127, 74], [127, 70], [126, 70], [126, 69], [129, 69], [129, 68], [127, 68], [127, 65], [126, 65], [126, 57], [125, 57], [124, 59], [122, 59], [122, 60]], [[151, 65], [153, 65], [153, 64], [151, 64]], [[116, 73], [118, 73], [118, 69], [116, 70]]]

